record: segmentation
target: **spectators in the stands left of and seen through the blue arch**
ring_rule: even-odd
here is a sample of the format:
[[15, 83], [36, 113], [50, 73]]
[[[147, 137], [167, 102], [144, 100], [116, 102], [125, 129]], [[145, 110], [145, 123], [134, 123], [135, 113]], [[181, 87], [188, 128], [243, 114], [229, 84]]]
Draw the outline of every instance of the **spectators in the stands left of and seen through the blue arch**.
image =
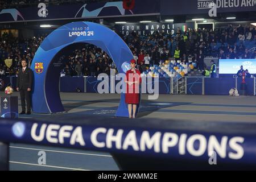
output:
[[[28, 67], [31, 67], [35, 52], [45, 37], [46, 35], [18, 39], [11, 34], [3, 34], [0, 38], [0, 76], [15, 76], [22, 59], [26, 59]], [[6, 59], [13, 62], [10, 68], [5, 63]], [[91, 44], [84, 44], [80, 49], [74, 50], [63, 62], [65, 65], [62, 73], [66, 76], [98, 76], [100, 73], [110, 75], [110, 69], [115, 69], [109, 55]]]

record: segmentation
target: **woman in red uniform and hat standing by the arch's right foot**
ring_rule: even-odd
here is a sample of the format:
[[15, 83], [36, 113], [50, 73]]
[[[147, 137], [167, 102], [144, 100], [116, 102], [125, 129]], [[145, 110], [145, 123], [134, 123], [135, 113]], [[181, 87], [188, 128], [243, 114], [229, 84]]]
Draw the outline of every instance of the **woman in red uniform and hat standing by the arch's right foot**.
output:
[[[141, 72], [135, 69], [136, 61], [131, 60], [131, 69], [126, 72], [126, 94], [125, 102], [128, 104], [129, 118], [135, 118], [137, 105], [139, 104], [139, 84], [141, 83]], [[132, 112], [133, 111], [133, 112]]]

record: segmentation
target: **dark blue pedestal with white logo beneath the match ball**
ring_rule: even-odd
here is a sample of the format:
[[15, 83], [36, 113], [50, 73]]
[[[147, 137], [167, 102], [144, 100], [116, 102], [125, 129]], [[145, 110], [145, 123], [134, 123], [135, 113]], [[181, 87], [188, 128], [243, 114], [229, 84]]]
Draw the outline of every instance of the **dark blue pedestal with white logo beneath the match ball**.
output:
[[1, 97], [1, 118], [18, 118], [18, 96]]

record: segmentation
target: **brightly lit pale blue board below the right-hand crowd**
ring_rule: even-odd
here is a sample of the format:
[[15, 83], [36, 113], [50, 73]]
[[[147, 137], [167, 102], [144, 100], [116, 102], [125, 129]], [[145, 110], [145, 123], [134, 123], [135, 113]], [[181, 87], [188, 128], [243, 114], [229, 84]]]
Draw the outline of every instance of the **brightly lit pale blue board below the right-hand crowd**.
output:
[[220, 59], [219, 73], [220, 74], [237, 74], [240, 67], [248, 69], [249, 73], [256, 74], [256, 59]]

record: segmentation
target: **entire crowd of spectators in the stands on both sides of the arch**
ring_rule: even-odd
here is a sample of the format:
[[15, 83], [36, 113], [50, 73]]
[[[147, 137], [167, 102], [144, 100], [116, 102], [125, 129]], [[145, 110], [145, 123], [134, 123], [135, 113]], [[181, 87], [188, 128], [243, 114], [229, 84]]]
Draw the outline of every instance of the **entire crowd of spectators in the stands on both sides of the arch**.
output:
[[[22, 59], [26, 59], [28, 67], [31, 67], [35, 52], [46, 36], [18, 39], [11, 34], [3, 34], [0, 37], [0, 76], [15, 75]], [[220, 59], [254, 59], [256, 53], [249, 52], [250, 47], [246, 47], [248, 44], [256, 47], [255, 28], [242, 26], [233, 28], [230, 25], [226, 28], [216, 28], [214, 31], [188, 29], [186, 32], [178, 28], [174, 35], [155, 31], [152, 35], [139, 36], [134, 32], [122, 38], [133, 52], [141, 72], [146, 71], [150, 65], [174, 60], [176, 50], [180, 53], [179, 60], [195, 61], [200, 70], [204, 69], [204, 58], [207, 56]], [[13, 60], [10, 68], [5, 64], [6, 59]], [[65, 59], [67, 60], [62, 73], [67, 76], [97, 76], [100, 73], [110, 74], [110, 70], [115, 69], [109, 55], [89, 44], [74, 50]]]

